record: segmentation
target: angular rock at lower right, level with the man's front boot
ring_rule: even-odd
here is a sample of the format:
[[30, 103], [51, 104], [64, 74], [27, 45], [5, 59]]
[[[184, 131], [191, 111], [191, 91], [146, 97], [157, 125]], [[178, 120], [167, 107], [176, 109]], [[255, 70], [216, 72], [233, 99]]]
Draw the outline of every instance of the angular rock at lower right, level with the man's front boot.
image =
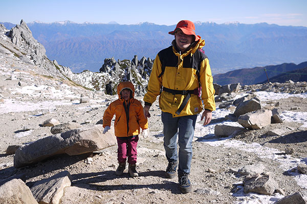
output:
[[278, 189], [277, 182], [272, 178], [270, 174], [256, 174], [253, 176], [247, 176], [244, 181], [245, 193], [259, 193], [265, 195], [272, 195], [276, 189]]

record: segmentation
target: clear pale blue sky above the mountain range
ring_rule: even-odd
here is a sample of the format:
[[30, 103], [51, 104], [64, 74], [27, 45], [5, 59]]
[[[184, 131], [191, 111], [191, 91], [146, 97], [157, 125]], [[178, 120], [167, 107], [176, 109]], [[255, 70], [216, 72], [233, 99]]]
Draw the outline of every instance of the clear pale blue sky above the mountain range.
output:
[[71, 20], [128, 25], [147, 21], [169, 26], [188, 19], [217, 24], [238, 21], [307, 27], [307, 0], [15, 0], [2, 1], [1, 7], [0, 21], [13, 24], [24, 19], [26, 23]]

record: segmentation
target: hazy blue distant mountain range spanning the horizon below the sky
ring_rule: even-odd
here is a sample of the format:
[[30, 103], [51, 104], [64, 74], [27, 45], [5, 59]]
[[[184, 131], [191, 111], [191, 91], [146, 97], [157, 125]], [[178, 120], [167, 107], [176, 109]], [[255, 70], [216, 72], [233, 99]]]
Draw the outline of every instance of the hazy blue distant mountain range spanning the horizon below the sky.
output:
[[[7, 29], [15, 25], [4, 22]], [[71, 21], [27, 23], [47, 56], [75, 72], [99, 72], [105, 58], [154, 59], [168, 47], [176, 25], [76, 24]], [[195, 22], [196, 33], [206, 41], [213, 75], [268, 64], [307, 61], [307, 27], [261, 24]]]

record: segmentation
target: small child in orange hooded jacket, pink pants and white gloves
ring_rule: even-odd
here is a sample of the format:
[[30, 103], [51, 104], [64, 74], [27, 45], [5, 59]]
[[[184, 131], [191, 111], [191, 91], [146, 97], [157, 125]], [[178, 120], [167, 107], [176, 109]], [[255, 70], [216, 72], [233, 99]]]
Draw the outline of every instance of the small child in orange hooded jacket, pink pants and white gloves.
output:
[[123, 175], [128, 157], [128, 172], [131, 177], [139, 176], [136, 170], [137, 144], [140, 127], [142, 134], [147, 133], [148, 123], [143, 113], [140, 101], [134, 99], [135, 88], [133, 83], [124, 81], [118, 84], [117, 94], [119, 99], [113, 101], [104, 111], [103, 134], [110, 129], [111, 120], [115, 114], [115, 136], [117, 138], [117, 160], [119, 163], [116, 175]]

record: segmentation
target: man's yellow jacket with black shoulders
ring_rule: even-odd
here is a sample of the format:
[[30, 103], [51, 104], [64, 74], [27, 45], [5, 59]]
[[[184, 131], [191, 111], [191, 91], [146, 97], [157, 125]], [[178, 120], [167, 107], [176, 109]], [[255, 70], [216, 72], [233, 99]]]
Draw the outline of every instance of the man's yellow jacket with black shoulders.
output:
[[[185, 53], [177, 52], [174, 46], [160, 51], [152, 66], [152, 71], [148, 81], [147, 93], [144, 96], [145, 105], [151, 105], [155, 102], [157, 96], [160, 95], [160, 88], [166, 87], [174, 90], [193, 90], [199, 87], [198, 75], [196, 68], [191, 62], [192, 55], [197, 49], [205, 46], [205, 40], [200, 39]], [[162, 72], [161, 58], [167, 59], [164, 74], [159, 77]], [[200, 64], [200, 83], [202, 87], [201, 98], [191, 94], [187, 105], [183, 108], [180, 115], [176, 111], [182, 104], [186, 95], [176, 94], [162, 91], [159, 97], [159, 105], [163, 112], [169, 112], [173, 117], [195, 115], [202, 111], [203, 108], [215, 110], [213, 77], [206, 57]], [[202, 105], [204, 102], [204, 107]]]

